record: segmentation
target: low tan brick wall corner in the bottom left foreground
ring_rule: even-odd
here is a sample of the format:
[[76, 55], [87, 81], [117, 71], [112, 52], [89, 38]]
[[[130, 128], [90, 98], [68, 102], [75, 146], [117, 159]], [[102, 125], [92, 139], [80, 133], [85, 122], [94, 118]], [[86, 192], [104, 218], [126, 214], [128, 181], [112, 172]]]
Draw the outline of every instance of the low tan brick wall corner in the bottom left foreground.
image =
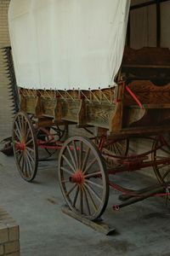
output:
[[0, 255], [20, 256], [19, 225], [0, 208]]

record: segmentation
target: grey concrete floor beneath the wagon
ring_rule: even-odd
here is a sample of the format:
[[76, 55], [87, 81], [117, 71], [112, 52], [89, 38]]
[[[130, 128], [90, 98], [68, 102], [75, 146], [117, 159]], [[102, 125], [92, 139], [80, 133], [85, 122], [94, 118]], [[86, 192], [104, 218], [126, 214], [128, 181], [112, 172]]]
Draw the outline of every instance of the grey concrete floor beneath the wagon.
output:
[[[154, 183], [136, 173], [116, 178], [128, 187]], [[21, 256], [169, 256], [170, 208], [165, 201], [150, 198], [113, 212], [115, 195], [111, 190], [103, 218], [116, 232], [105, 236], [61, 212], [57, 160], [40, 162], [35, 182], [26, 183], [14, 157], [0, 154], [0, 205], [20, 224]]]

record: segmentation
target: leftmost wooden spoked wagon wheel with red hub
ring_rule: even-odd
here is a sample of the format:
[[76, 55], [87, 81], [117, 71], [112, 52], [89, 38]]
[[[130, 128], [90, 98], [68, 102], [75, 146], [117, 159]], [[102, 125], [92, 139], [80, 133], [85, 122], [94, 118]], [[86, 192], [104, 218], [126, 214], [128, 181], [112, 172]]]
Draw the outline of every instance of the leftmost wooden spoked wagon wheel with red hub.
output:
[[21, 177], [30, 182], [37, 174], [38, 150], [36, 133], [27, 113], [19, 112], [14, 117], [13, 148]]

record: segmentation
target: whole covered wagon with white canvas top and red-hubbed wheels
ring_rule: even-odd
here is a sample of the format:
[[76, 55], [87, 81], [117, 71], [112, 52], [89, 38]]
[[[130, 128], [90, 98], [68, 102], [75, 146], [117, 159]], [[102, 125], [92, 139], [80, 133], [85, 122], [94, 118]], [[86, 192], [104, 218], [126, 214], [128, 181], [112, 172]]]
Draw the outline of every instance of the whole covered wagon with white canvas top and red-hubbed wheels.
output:
[[[37, 148], [60, 149], [61, 191], [71, 210], [85, 218], [99, 218], [105, 211], [109, 186], [123, 194], [116, 210], [160, 191], [168, 195], [170, 51], [160, 47], [160, 36], [167, 32], [161, 33], [160, 27], [164, 2], [10, 3], [9, 32], [20, 91], [13, 127], [17, 167], [31, 181], [37, 174]], [[133, 29], [142, 34], [142, 21], [139, 14], [129, 18], [129, 11], [139, 8], [154, 17], [150, 24], [157, 25], [155, 38], [142, 45], [147, 47], [132, 49]], [[65, 140], [68, 125], [85, 129], [89, 137]], [[128, 154], [132, 137], [150, 136], [150, 151]], [[154, 187], [135, 192], [109, 180], [111, 174], [150, 166], [160, 182]]]

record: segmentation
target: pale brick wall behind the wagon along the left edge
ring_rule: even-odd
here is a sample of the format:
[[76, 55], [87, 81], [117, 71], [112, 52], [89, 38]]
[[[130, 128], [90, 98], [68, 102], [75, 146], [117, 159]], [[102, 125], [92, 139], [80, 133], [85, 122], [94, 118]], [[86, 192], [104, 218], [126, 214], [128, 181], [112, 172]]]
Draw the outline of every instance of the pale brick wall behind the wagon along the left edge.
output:
[[[8, 4], [10, 0], [0, 0], [0, 48], [10, 45], [8, 35]], [[11, 135], [12, 112], [8, 99], [8, 79], [5, 75], [3, 53], [0, 49], [0, 140]]]

